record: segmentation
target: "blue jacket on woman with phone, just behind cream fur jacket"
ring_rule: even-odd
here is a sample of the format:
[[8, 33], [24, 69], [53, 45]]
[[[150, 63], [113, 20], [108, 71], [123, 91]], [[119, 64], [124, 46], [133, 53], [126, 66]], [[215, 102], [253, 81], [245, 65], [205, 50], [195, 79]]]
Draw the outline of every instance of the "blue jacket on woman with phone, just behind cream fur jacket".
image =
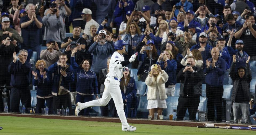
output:
[[172, 60], [167, 60], [167, 67], [164, 68], [164, 61], [156, 62], [156, 64], [159, 64], [161, 69], [163, 69], [169, 76], [167, 82], [165, 83], [165, 87], [168, 87], [168, 85], [174, 85], [176, 84], [176, 69], [177, 69], [177, 62]]

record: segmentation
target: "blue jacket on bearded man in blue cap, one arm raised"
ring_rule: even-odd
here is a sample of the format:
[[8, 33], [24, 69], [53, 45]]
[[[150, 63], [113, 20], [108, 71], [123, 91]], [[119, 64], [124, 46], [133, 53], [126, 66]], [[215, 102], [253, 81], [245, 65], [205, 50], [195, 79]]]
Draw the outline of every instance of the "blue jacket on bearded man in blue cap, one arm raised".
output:
[[245, 67], [245, 63], [248, 60], [248, 56], [249, 56], [245, 51], [243, 51], [243, 56], [241, 56], [239, 51], [238, 50], [234, 50], [231, 46], [227, 46], [227, 50], [229, 51], [230, 61], [231, 62], [233, 62], [233, 55], [236, 56], [236, 58], [235, 58], [235, 62], [236, 62], [235, 69], [237, 69], [240, 66], [244, 66]]

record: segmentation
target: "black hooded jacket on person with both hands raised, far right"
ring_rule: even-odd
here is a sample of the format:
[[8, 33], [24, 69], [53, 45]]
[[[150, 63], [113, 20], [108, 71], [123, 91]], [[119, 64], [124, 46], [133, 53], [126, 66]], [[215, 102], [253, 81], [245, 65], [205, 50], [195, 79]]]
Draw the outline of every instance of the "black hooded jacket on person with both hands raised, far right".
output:
[[[237, 95], [237, 90], [239, 88], [239, 75], [238, 75], [238, 70], [235, 69], [236, 67], [236, 63], [232, 63], [231, 65], [231, 70], [229, 72], [229, 75], [231, 77], [231, 79], [233, 80], [234, 82], [234, 85], [233, 85], [233, 90], [232, 90], [232, 93], [231, 93], [231, 100], [234, 102], [235, 101], [235, 97]], [[237, 72], [236, 72], [237, 71]], [[242, 83], [242, 88], [243, 88], [243, 93], [244, 93], [244, 98], [246, 100], [248, 100], [248, 102], [250, 101], [251, 99], [251, 92], [250, 92], [250, 82], [251, 82], [251, 69], [250, 69], [250, 65], [249, 63], [246, 63], [245, 64], [245, 76], [241, 79], [241, 83]]]

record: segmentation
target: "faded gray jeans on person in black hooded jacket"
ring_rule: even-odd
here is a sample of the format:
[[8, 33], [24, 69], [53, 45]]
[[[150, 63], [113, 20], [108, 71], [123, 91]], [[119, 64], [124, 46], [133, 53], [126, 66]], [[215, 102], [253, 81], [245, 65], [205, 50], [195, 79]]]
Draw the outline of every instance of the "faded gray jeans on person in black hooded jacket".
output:
[[248, 102], [233, 102], [234, 123], [238, 123], [238, 119], [240, 118], [240, 112], [242, 112], [245, 123], [250, 123], [250, 112]]

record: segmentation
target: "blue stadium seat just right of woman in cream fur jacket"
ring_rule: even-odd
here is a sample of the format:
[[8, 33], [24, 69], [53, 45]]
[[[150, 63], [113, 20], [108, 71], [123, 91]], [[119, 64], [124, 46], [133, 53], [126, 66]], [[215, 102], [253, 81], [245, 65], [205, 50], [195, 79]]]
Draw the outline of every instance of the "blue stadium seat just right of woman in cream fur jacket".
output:
[[174, 120], [177, 119], [176, 112], [174, 112], [174, 110], [177, 110], [178, 99], [179, 99], [179, 97], [177, 97], [177, 96], [176, 97], [168, 96], [167, 99], [165, 99], [166, 106], [167, 106], [167, 113], [166, 113], [166, 116], [164, 116], [163, 119], [169, 120], [169, 115], [170, 114], [173, 115]]

